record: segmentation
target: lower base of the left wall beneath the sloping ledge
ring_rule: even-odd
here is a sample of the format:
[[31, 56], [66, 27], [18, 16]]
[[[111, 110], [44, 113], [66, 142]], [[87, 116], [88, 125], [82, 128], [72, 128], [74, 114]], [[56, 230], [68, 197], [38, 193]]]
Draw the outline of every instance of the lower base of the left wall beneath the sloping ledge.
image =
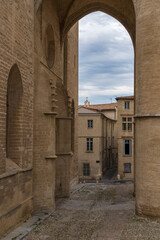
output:
[[12, 171], [0, 176], [0, 236], [31, 216], [32, 172]]

